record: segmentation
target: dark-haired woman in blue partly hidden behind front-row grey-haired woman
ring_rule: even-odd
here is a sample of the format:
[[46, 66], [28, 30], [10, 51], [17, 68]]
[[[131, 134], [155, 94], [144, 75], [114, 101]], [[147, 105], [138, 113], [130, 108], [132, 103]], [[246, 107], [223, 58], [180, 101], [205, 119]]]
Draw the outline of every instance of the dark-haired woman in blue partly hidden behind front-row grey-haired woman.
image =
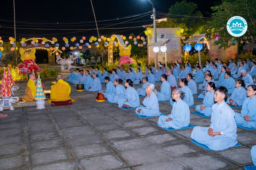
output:
[[[188, 106], [192, 106], [194, 104], [194, 97], [189, 87], [187, 87], [187, 79], [180, 79], [179, 85], [180, 90], [184, 92], [184, 98], [182, 100], [186, 102]], [[170, 104], [171, 106], [174, 104], [172, 99], [170, 100]]]

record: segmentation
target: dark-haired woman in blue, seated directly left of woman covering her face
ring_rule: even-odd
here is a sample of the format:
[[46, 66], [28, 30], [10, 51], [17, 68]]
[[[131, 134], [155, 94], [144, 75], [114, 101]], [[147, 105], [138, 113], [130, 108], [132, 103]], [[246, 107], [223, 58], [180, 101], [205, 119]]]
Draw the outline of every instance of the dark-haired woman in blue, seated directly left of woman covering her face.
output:
[[126, 101], [123, 104], [124, 108], [137, 108], [139, 104], [139, 95], [132, 87], [133, 81], [131, 79], [125, 80], [124, 86], [126, 87]]

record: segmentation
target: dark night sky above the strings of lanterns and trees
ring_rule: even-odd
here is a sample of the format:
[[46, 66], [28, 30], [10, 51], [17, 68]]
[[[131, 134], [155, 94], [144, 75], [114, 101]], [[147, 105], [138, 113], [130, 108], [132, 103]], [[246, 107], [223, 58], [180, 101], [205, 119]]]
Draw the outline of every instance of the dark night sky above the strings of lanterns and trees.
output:
[[[4, 2], [3, 2], [4, 1]], [[157, 12], [168, 13], [171, 5], [182, 0], [150, 0]], [[99, 34], [110, 36], [130, 33], [139, 35], [142, 25], [150, 19], [152, 4], [148, 0], [92, 0]], [[198, 11], [210, 17], [210, 6], [220, 2], [187, 0], [198, 4]], [[17, 40], [23, 37], [97, 37], [90, 0], [15, 0]], [[137, 15], [137, 16], [135, 16]], [[14, 37], [13, 0], [2, 0], [0, 9], [0, 36], [4, 41]], [[157, 15], [157, 19], [164, 17]], [[118, 20], [117, 20], [118, 18]], [[124, 23], [121, 23], [124, 22]], [[22, 28], [22, 29], [19, 29]], [[91, 30], [94, 29], [94, 30]]]

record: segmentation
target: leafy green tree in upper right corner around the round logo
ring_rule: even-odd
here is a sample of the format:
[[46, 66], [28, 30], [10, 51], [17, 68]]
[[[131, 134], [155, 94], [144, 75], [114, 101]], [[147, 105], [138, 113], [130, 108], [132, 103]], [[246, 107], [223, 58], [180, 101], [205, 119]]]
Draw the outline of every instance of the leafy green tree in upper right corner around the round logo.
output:
[[[218, 41], [215, 45], [219, 48], [227, 48], [232, 44], [231, 40], [254, 42], [256, 38], [256, 1], [255, 0], [224, 0], [221, 5], [211, 7], [215, 13], [212, 14], [212, 21], [208, 22], [209, 33], [214, 36], [219, 33]], [[227, 29], [226, 24], [232, 16], [241, 16], [245, 18], [248, 24], [247, 32], [239, 38], [232, 37]]]

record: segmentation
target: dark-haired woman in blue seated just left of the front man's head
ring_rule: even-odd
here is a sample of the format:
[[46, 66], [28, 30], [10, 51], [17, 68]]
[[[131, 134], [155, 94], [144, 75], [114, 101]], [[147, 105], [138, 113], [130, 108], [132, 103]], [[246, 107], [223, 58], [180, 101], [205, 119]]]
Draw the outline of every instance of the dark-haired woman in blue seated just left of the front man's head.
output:
[[211, 116], [212, 106], [214, 104], [214, 91], [215, 91], [215, 83], [209, 82], [206, 87], [206, 95], [204, 97], [203, 104], [196, 106], [196, 111], [199, 113], [203, 113], [206, 116]]

